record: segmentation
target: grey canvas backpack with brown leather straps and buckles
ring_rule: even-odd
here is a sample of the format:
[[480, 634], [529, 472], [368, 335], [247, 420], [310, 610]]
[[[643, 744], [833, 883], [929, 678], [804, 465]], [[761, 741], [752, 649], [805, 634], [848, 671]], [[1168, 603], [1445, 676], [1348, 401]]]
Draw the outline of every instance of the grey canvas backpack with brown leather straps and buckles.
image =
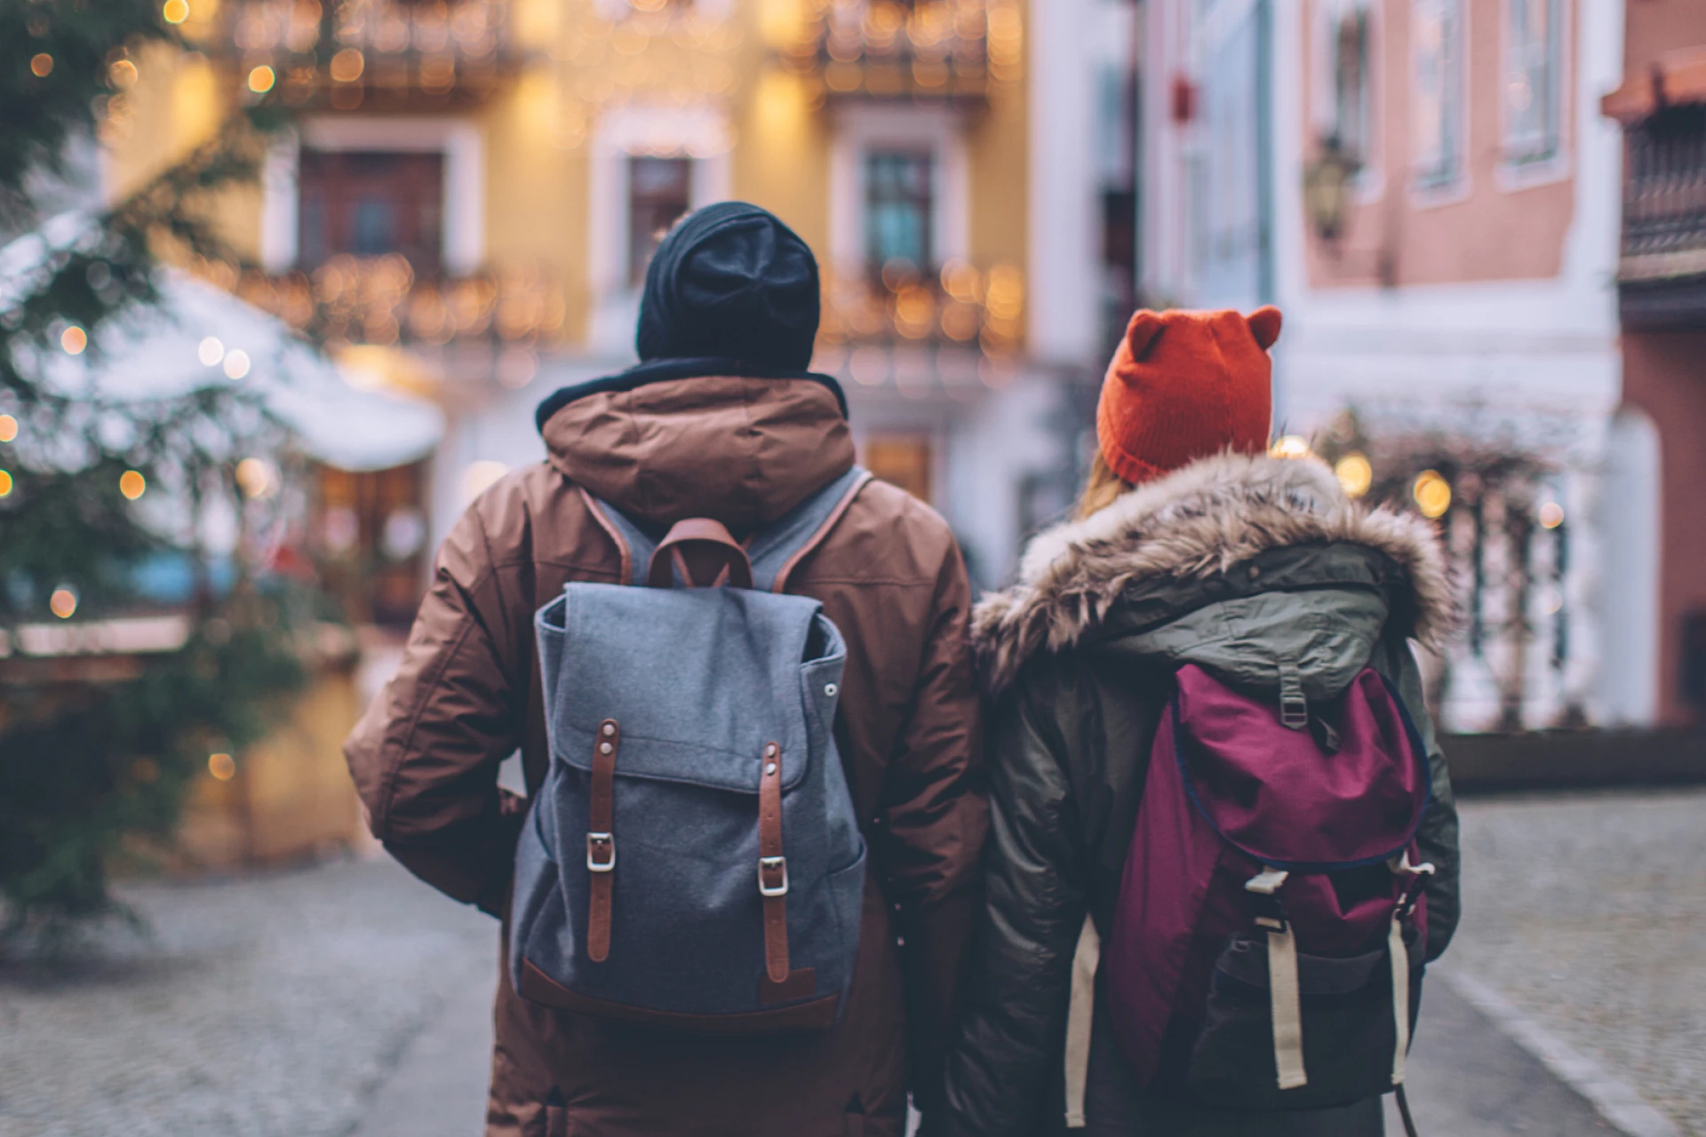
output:
[[534, 617], [551, 764], [515, 859], [524, 997], [694, 1033], [839, 1018], [865, 890], [833, 735], [846, 646], [783, 590], [868, 479], [746, 545], [705, 518], [657, 540], [585, 496], [626, 585], [570, 583]]

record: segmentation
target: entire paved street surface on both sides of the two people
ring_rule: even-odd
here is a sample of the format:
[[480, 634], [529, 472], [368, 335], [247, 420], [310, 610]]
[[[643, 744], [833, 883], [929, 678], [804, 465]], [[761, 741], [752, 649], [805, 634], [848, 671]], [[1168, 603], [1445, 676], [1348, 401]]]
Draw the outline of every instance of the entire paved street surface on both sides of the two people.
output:
[[[1691, 934], [1706, 793], [1464, 815], [1469, 917], [1430, 975], [1411, 1062], [1423, 1135], [1617, 1132], [1532, 1050], [1706, 1134], [1706, 951]], [[478, 1132], [486, 917], [386, 861], [128, 898], [150, 941], [61, 980], [0, 978], [0, 1137]]]

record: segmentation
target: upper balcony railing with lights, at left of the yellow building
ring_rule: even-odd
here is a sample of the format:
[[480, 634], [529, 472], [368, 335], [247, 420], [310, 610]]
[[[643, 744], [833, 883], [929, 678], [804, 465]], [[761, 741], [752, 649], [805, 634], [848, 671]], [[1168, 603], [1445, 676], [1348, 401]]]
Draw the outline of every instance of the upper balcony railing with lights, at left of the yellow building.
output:
[[225, 0], [220, 55], [293, 106], [481, 99], [515, 73], [507, 0]]

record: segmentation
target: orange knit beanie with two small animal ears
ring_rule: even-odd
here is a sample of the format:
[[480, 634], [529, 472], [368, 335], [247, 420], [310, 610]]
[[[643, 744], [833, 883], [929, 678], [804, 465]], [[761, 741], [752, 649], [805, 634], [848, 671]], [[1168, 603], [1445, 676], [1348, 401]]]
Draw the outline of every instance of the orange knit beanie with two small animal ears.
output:
[[1278, 338], [1273, 307], [1133, 315], [1095, 409], [1107, 465], [1134, 486], [1227, 448], [1266, 450]]

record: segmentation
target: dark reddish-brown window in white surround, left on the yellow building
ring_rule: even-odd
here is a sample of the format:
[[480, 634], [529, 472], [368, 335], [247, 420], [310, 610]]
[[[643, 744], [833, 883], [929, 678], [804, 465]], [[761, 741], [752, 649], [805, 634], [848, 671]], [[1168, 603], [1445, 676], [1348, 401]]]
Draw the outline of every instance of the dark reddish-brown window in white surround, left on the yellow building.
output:
[[297, 263], [401, 252], [420, 274], [444, 254], [444, 155], [304, 150], [297, 172]]

